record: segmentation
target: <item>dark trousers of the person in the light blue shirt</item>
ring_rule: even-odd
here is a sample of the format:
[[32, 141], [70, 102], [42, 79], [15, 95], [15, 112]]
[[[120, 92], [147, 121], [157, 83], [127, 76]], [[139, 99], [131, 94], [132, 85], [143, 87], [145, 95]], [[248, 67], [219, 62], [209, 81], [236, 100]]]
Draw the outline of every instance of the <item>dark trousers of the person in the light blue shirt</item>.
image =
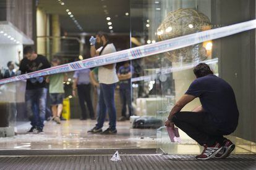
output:
[[94, 118], [94, 110], [91, 99], [91, 85], [90, 84], [79, 84], [77, 85], [77, 94], [79, 96], [79, 103], [82, 110], [82, 118], [87, 118], [85, 102], [90, 113], [90, 118]]

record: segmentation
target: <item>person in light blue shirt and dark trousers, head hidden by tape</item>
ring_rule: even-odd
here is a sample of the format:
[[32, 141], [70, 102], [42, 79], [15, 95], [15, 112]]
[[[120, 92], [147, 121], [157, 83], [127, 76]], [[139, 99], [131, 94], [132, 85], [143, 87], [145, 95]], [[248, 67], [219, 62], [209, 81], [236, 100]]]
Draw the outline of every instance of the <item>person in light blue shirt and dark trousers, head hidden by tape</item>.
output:
[[85, 102], [90, 113], [90, 118], [95, 119], [94, 110], [92, 105], [91, 97], [91, 84], [90, 84], [90, 69], [77, 70], [74, 73], [74, 83], [73, 83], [73, 95], [77, 94], [79, 96], [79, 103], [82, 111], [81, 120], [87, 119], [87, 113], [85, 108]]

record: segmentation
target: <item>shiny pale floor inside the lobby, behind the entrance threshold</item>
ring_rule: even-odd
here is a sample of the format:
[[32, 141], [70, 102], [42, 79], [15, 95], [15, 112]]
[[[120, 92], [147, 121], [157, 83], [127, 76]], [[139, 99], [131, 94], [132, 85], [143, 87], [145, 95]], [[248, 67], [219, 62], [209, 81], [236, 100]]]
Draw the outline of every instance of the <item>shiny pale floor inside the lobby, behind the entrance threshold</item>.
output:
[[[30, 129], [29, 123], [18, 126], [15, 137], [0, 138], [0, 150], [32, 150], [32, 149], [95, 149], [95, 148], [162, 148], [169, 154], [198, 154], [202, 147], [190, 139], [184, 132], [180, 132], [181, 144], [171, 143], [163, 127], [156, 129], [131, 129], [129, 121], [117, 122], [116, 135], [103, 136], [100, 134], [87, 134], [95, 125], [95, 121], [80, 121], [72, 119], [56, 124], [53, 121], [45, 123], [45, 134], [26, 134]], [[108, 123], [105, 124], [105, 128]], [[103, 130], [104, 130], [103, 129]], [[255, 143], [229, 136], [236, 144], [233, 153], [255, 153]]]

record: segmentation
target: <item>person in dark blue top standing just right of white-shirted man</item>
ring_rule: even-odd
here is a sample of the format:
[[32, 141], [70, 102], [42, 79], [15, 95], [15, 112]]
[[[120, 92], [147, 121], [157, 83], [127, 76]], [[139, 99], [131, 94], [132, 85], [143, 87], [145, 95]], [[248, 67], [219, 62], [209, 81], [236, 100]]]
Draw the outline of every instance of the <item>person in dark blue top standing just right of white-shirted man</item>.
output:
[[[131, 94], [131, 84], [130, 78], [132, 77], [132, 73], [134, 68], [130, 65], [130, 61], [124, 62], [124, 65], [119, 67], [117, 76], [119, 78], [119, 86], [120, 86], [120, 97], [122, 101], [122, 117], [119, 121], [125, 121], [132, 116], [132, 97]], [[126, 105], [128, 105], [129, 116], [126, 117]]]

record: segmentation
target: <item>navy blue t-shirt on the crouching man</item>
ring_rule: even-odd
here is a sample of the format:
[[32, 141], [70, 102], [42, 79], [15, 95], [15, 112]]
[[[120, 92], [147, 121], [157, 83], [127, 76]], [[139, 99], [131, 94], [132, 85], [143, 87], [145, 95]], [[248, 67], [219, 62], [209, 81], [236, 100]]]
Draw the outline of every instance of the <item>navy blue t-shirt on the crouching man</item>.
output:
[[232, 87], [215, 75], [195, 79], [186, 94], [199, 97], [203, 109], [209, 113], [218, 127], [234, 131], [238, 124], [239, 111]]

